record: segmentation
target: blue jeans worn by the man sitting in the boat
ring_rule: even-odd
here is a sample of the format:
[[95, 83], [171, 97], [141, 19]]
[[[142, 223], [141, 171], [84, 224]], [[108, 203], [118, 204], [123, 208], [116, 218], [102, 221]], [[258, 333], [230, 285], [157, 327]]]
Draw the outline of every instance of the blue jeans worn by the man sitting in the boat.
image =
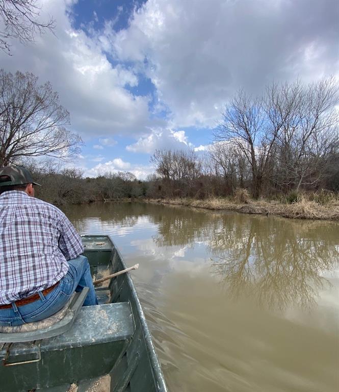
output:
[[74, 291], [81, 291], [89, 287], [89, 293], [83, 306], [97, 305], [94, 286], [88, 260], [85, 256], [78, 256], [68, 261], [67, 274], [60, 280], [58, 286], [46, 296], [39, 291], [40, 299], [28, 305], [0, 309], [0, 325], [16, 326], [43, 320], [64, 307]]

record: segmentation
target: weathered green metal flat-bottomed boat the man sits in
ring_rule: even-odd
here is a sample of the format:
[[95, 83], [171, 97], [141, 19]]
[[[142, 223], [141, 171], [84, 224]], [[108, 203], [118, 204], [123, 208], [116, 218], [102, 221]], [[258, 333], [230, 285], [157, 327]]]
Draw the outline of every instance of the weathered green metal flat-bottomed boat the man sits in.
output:
[[[111, 236], [82, 240], [93, 280], [126, 268]], [[74, 295], [61, 322], [33, 332], [0, 333], [2, 392], [167, 392], [129, 273], [95, 287], [99, 305], [81, 307], [85, 288]], [[4, 340], [9, 335], [10, 342]]]

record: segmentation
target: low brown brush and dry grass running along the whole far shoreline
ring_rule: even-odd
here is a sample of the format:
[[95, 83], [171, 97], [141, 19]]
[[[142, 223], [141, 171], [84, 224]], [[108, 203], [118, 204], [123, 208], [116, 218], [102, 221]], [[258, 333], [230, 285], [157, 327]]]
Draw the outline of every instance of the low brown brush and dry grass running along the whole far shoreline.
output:
[[[59, 171], [56, 167], [49, 167], [46, 172], [38, 167], [31, 167], [31, 171], [36, 181], [42, 185], [36, 189], [37, 197], [59, 207], [67, 204], [129, 201], [339, 221], [339, 192], [324, 188], [277, 192], [255, 199], [250, 189], [241, 187], [236, 187], [228, 194], [220, 194], [223, 192], [218, 190], [217, 180], [213, 178], [206, 178], [205, 184], [192, 180], [186, 187], [181, 187], [177, 181], [156, 177], [140, 181], [128, 172], [83, 178], [82, 171], [74, 168]], [[199, 192], [196, 191], [197, 188]], [[179, 190], [183, 194], [178, 195]]]

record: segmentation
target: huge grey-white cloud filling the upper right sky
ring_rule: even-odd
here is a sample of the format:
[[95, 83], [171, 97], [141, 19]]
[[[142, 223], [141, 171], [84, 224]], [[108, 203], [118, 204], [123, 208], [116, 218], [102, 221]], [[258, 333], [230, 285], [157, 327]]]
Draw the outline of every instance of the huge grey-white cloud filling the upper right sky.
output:
[[110, 42], [144, 69], [175, 126], [214, 127], [238, 87], [337, 74], [338, 20], [336, 2], [149, 0]]

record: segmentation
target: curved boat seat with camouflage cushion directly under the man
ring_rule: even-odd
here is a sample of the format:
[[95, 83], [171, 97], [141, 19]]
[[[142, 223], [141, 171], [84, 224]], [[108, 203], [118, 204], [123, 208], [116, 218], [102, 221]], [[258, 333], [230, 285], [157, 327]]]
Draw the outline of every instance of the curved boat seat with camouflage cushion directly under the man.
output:
[[66, 332], [83, 306], [88, 291], [89, 288], [84, 287], [81, 292], [74, 292], [62, 309], [44, 320], [14, 327], [0, 326], [0, 343], [32, 341]]

